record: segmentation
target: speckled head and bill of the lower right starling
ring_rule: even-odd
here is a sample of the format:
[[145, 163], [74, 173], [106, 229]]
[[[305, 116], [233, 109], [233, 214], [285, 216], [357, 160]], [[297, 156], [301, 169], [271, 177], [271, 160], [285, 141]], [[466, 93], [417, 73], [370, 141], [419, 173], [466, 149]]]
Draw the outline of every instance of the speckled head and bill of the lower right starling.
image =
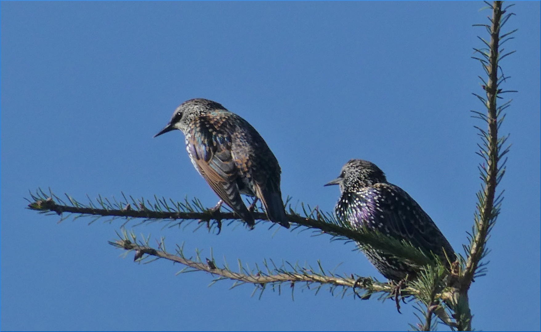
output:
[[340, 192], [357, 191], [377, 183], [387, 183], [385, 173], [370, 161], [352, 159], [342, 167], [340, 176], [325, 186], [339, 185]]

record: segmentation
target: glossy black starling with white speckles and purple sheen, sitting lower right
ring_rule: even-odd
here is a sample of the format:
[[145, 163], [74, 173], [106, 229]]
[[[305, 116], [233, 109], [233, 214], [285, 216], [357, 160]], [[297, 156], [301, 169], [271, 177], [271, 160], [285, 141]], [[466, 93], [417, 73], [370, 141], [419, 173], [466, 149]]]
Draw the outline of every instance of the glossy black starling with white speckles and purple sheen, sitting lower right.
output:
[[[387, 182], [385, 174], [372, 162], [349, 160], [340, 177], [325, 186], [330, 185], [340, 185], [340, 199], [334, 208], [340, 220], [347, 220], [353, 227], [365, 226], [394, 239], [408, 240], [425, 253], [436, 254], [444, 263], [447, 258], [456, 260], [453, 248], [430, 216], [403, 189]], [[360, 248], [387, 279], [415, 277], [411, 266], [392, 255], [369, 245]]]

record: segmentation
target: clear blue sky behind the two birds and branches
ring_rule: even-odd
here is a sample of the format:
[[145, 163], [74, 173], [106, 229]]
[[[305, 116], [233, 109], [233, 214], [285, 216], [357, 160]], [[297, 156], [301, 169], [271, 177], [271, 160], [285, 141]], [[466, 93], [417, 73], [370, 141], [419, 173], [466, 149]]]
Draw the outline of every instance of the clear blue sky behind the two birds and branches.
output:
[[[180, 132], [153, 139], [182, 101], [208, 98], [249, 121], [282, 168], [282, 193], [332, 211], [323, 185], [352, 158], [374, 162], [431, 215], [458, 252], [479, 189], [484, 111], [472, 60], [490, 11], [482, 2], [2, 2], [2, 330], [404, 330], [412, 306], [328, 292], [271, 291], [204, 273], [175, 276], [107, 244], [121, 222], [25, 209], [38, 187], [85, 200], [216, 195], [193, 169]], [[518, 90], [505, 200], [489, 273], [472, 284], [473, 326], [539, 330], [540, 6], [519, 2], [503, 63]], [[130, 228], [131, 229], [131, 228]], [[384, 278], [352, 244], [325, 236], [135, 227], [170, 248], [210, 248], [217, 263], [263, 259]], [[443, 328], [442, 328], [443, 329]]]

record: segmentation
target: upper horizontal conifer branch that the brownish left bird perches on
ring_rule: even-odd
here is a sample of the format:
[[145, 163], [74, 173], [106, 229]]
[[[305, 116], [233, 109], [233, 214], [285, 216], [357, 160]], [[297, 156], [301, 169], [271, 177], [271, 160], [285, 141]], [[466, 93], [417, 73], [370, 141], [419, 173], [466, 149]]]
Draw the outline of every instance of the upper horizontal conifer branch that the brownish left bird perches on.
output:
[[[30, 193], [31, 200], [29, 200], [30, 204], [28, 208], [39, 213], [60, 215], [60, 221], [69, 218], [70, 214], [75, 214], [74, 219], [83, 216], [94, 216], [94, 219], [90, 223], [103, 216], [109, 216], [111, 220], [118, 218], [126, 219], [122, 226], [133, 219], [143, 219], [141, 222], [165, 221], [168, 227], [180, 226], [184, 222], [197, 220], [204, 222], [208, 226], [209, 231], [217, 228], [218, 232], [220, 232], [222, 223], [224, 222], [228, 222], [227, 225], [231, 225], [235, 221], [242, 222], [234, 212], [213, 211], [204, 207], [197, 199], [193, 199], [191, 202], [187, 199], [184, 202], [174, 202], [172, 200], [154, 197], [155, 201], [151, 202], [143, 198], [136, 200], [129, 196], [130, 201], [126, 195], [122, 195], [124, 198], [123, 201], [117, 201], [113, 198], [111, 202], [109, 199], [99, 196], [95, 202], [89, 199], [88, 204], [82, 204], [67, 194], [65, 196], [68, 202], [65, 202], [50, 190], [49, 194], [47, 194], [41, 189], [38, 189], [35, 194]], [[130, 203], [128, 203], [129, 201]], [[315, 232], [315, 235], [331, 235], [332, 240], [354, 241], [364, 245], [370, 245], [403, 258], [405, 263], [412, 266], [420, 267], [434, 263], [430, 253], [422, 252], [409, 242], [393, 239], [378, 232], [369, 232], [366, 229], [352, 227], [347, 221], [339, 221], [329, 213], [320, 212], [317, 207], [310, 208], [301, 204], [301, 209], [302, 215], [295, 212], [292, 206], [289, 205], [287, 217], [293, 223], [292, 231], [299, 228], [301, 230], [311, 229]], [[269, 222], [267, 215], [260, 212], [258, 208], [252, 214], [254, 219], [258, 220], [259, 223]], [[274, 224], [271, 225], [271, 227], [273, 226]]]

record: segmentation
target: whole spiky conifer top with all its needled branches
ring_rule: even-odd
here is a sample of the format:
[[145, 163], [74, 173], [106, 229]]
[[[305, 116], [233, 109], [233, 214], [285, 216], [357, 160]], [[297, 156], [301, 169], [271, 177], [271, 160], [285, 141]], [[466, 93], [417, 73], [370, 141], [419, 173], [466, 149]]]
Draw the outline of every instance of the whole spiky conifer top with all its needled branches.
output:
[[[197, 252], [195, 259], [187, 258], [183, 254], [182, 247], [178, 246], [176, 254], [171, 254], [167, 252], [163, 239], [157, 248], [153, 248], [148, 243], [149, 239], [137, 241], [133, 233], [127, 234], [124, 231], [120, 240], [109, 243], [126, 250], [126, 254], [134, 251], [136, 261], [148, 261], [148, 258], [152, 258], [152, 260], [166, 259], [184, 265], [185, 268], [180, 273], [207, 272], [215, 277], [212, 283], [220, 280], [232, 280], [235, 282], [232, 288], [240, 284], [253, 284], [255, 286], [254, 292], [260, 289], [261, 294], [267, 286], [278, 289], [280, 292], [281, 285], [286, 283], [289, 284], [293, 295], [295, 284], [301, 283], [306, 288], [315, 285], [313, 289], [316, 292], [319, 292], [323, 286], [328, 287], [331, 293], [341, 287], [342, 296], [346, 294], [347, 290], [352, 290], [354, 296], [361, 299], [367, 299], [374, 293], [381, 293], [380, 299], [394, 296], [398, 306], [401, 292], [405, 296], [415, 297], [418, 305], [416, 309], [421, 313], [421, 315], [417, 315], [420, 323], [412, 326], [413, 329], [432, 330], [436, 328], [437, 322], [434, 319], [434, 315], [436, 315], [451, 330], [471, 330], [472, 315], [468, 291], [474, 278], [486, 273], [487, 262], [483, 261], [489, 253], [486, 243], [502, 205], [503, 192], [497, 193], [497, 186], [505, 174], [505, 155], [509, 152], [509, 146], [506, 144], [509, 135], [498, 137], [498, 131], [505, 119], [503, 111], [510, 106], [511, 100], [499, 106], [497, 101], [502, 99], [503, 93], [516, 92], [504, 91], [500, 87], [509, 78], [503, 74], [500, 60], [514, 52], [504, 52], [502, 45], [513, 39], [512, 34], [517, 30], [507, 33], [501, 32], [505, 23], [514, 15], [507, 13], [507, 9], [512, 5], [502, 9], [502, 1], [494, 1], [492, 4], [485, 3], [492, 9], [492, 17], [489, 17], [490, 24], [476, 24], [475, 26], [484, 26], [490, 34], [490, 40], [479, 37], [483, 48], [474, 48], [475, 56], [472, 57], [481, 63], [487, 76], [485, 78], [479, 76], [481, 86], [485, 91], [484, 95], [473, 93], [486, 107], [486, 113], [472, 111], [474, 118], [486, 123], [484, 128], [475, 126], [481, 138], [477, 154], [483, 159], [483, 162], [478, 166], [482, 182], [481, 189], [477, 193], [478, 203], [472, 232], [469, 233], [469, 244], [464, 246], [466, 258], [459, 255], [458, 262], [447, 262], [451, 265], [451, 271], [437, 257], [431, 253], [423, 252], [409, 242], [393, 239], [378, 232], [367, 231], [364, 228], [353, 227], [347, 220], [337, 220], [332, 214], [320, 212], [317, 206], [311, 208], [301, 203], [302, 212], [297, 212], [291, 204], [288, 206], [291, 199], [286, 201], [286, 207], [289, 208], [287, 218], [292, 223], [291, 231], [309, 229], [314, 232], [314, 235], [329, 234], [332, 240], [353, 241], [359, 247], [371, 246], [399, 258], [405, 264], [418, 268], [419, 274], [416, 279], [408, 280], [406, 287], [400, 289], [392, 283], [381, 283], [371, 277], [354, 276], [353, 274], [338, 276], [327, 273], [321, 268], [319, 262], [318, 270], [301, 268], [287, 262], [277, 267], [272, 261], [270, 264], [264, 261], [265, 270], [262, 270], [258, 265], [255, 265], [255, 269], [245, 268], [239, 261], [239, 272], [233, 272], [227, 263], [223, 267], [218, 267], [212, 257], [212, 252], [210, 258], [205, 258], [206, 261], [201, 260], [200, 252]], [[89, 223], [102, 217], [109, 217], [110, 221], [122, 219], [124, 220], [122, 227], [134, 219], [138, 220], [138, 223], [164, 222], [166, 227], [189, 225], [189, 223], [196, 221], [197, 228], [206, 225], [209, 232], [217, 231], [218, 234], [223, 224], [229, 226], [233, 223], [236, 225], [242, 223], [239, 216], [228, 210], [227, 207], [223, 207], [225, 211], [214, 211], [204, 207], [198, 199], [175, 202], [156, 196], [154, 201], [144, 198], [134, 199], [131, 196], [128, 198], [124, 194], [122, 196], [123, 200], [121, 201], [99, 196], [96, 200], [89, 198], [87, 204], [81, 204], [67, 194], [68, 201], [65, 202], [50, 191], [49, 194], [46, 194], [38, 189], [35, 194], [30, 193], [31, 199], [29, 199], [28, 208], [39, 213], [60, 215], [60, 221], [69, 218], [69, 216], [74, 216], [74, 219], [82, 216], [90, 217], [92, 220]], [[259, 224], [269, 222], [262, 208], [256, 207], [252, 214]], [[275, 227], [272, 222], [270, 225], [269, 228]], [[358, 290], [362, 290], [364, 293], [359, 295]]]

